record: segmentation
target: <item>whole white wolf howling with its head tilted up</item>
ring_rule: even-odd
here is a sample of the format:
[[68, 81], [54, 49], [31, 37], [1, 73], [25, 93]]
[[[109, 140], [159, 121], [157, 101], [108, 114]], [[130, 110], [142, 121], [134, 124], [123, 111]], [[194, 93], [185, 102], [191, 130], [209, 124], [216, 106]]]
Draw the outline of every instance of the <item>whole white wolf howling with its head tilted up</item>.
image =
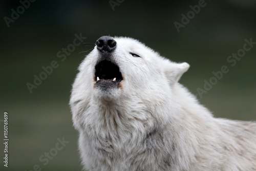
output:
[[256, 170], [256, 123], [214, 118], [178, 80], [189, 65], [103, 36], [70, 106], [88, 170]]

